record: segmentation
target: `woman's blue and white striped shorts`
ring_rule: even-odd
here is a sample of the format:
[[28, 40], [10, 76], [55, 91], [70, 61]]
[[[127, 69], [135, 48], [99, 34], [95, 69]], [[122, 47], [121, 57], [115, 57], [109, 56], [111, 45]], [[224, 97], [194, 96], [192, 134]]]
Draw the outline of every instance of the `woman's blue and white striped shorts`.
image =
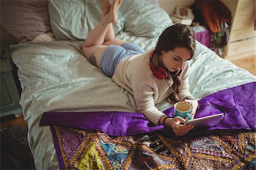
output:
[[144, 53], [144, 49], [135, 43], [124, 43], [122, 45], [109, 45], [102, 53], [100, 66], [101, 70], [108, 77], [112, 77], [117, 64], [126, 57]]

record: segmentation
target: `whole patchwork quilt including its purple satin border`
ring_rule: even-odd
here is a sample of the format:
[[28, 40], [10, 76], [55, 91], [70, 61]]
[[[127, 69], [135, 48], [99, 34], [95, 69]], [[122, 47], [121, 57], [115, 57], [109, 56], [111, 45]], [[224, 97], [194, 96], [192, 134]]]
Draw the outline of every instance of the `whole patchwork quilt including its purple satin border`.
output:
[[[44, 113], [61, 169], [255, 169], [255, 82], [199, 101], [197, 117], [225, 113], [216, 126], [177, 138], [143, 114]], [[173, 107], [164, 111], [172, 116]]]

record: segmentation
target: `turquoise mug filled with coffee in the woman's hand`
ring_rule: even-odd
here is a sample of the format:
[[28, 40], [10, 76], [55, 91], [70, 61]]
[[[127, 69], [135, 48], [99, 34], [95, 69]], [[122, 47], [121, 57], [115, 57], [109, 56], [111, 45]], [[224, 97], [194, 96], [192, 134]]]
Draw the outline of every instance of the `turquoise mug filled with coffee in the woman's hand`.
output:
[[191, 120], [191, 105], [189, 103], [182, 103], [182, 102], [177, 102], [174, 105], [174, 117], [181, 117], [185, 119], [185, 117], [188, 117], [188, 120]]

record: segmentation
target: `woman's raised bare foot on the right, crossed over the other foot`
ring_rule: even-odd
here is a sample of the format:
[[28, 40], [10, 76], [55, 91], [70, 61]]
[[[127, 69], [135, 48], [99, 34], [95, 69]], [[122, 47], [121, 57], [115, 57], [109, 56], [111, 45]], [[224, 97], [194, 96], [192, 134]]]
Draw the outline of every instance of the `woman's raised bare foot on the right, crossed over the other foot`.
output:
[[115, 23], [118, 20], [118, 10], [122, 4], [122, 0], [113, 0], [110, 10], [103, 16], [101, 22], [105, 26], [110, 23]]

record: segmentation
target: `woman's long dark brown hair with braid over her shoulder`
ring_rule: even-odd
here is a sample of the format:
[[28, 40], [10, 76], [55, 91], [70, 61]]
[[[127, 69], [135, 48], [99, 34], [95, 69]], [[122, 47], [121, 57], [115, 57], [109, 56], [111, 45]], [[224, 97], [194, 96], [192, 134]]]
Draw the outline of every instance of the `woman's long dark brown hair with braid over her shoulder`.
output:
[[[161, 51], [172, 51], [176, 47], [184, 47], [191, 51], [190, 59], [192, 59], [192, 57], [195, 55], [196, 40], [190, 26], [185, 24], [173, 24], [172, 26], [166, 28], [166, 30], [164, 30], [159, 36], [154, 53], [159, 57], [162, 55]], [[168, 96], [168, 99], [172, 103], [178, 102], [179, 97], [177, 94], [180, 93], [180, 77], [171, 77], [170, 74], [168, 74], [167, 78], [169, 80], [172, 78], [174, 81], [174, 84], [170, 88], [175, 91]]]

